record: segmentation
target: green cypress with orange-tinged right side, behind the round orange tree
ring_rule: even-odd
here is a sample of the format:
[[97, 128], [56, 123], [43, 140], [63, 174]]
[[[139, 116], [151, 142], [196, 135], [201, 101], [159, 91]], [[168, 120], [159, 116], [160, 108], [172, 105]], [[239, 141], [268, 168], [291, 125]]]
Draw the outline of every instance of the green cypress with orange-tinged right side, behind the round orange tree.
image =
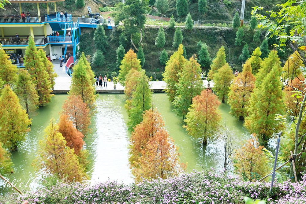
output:
[[196, 62], [194, 57], [186, 61], [183, 70], [179, 74], [178, 83], [174, 102], [174, 112], [185, 119], [188, 108], [192, 104], [192, 98], [199, 95], [203, 89], [203, 81], [200, 76], [200, 64]]

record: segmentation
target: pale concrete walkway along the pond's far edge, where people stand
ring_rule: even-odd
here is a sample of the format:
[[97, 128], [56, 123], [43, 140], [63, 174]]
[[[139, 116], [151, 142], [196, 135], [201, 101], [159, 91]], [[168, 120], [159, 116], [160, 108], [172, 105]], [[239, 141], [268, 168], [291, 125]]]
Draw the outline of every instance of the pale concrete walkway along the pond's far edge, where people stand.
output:
[[[59, 60], [53, 61], [54, 71], [58, 74], [58, 77], [55, 78], [55, 85], [53, 89], [53, 93], [67, 93], [70, 90], [71, 85], [71, 77], [65, 72], [65, 63], [60, 67]], [[151, 89], [153, 92], [163, 92], [166, 87], [166, 83], [164, 81], [150, 81], [149, 82]], [[204, 87], [207, 87], [207, 80], [203, 80]], [[213, 87], [213, 83], [211, 82], [210, 87]], [[95, 87], [97, 93], [123, 93], [124, 86], [120, 83], [117, 83], [116, 89], [114, 90], [114, 83], [107, 82], [107, 87]]]

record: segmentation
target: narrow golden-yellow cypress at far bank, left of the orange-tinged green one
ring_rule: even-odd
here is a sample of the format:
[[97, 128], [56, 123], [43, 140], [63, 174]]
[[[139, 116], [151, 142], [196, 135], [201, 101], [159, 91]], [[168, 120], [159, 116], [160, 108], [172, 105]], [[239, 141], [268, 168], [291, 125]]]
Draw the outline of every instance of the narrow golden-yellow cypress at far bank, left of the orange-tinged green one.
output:
[[176, 52], [170, 57], [166, 63], [165, 72], [163, 73], [166, 82], [165, 92], [171, 102], [174, 101], [176, 95], [176, 84], [178, 82], [179, 73], [181, 72], [186, 59], [183, 57], [183, 45], [181, 44]]

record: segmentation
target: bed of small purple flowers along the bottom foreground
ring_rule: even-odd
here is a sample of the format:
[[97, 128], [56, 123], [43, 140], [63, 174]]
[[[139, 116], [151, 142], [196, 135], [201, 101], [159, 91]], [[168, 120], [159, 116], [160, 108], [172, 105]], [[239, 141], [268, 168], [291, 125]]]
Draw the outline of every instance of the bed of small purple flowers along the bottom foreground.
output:
[[[17, 193], [0, 197], [0, 203], [112, 203], [112, 204], [156, 204], [156, 203], [210, 203], [240, 204], [243, 197], [266, 200], [268, 204], [306, 203], [306, 175], [302, 181], [275, 183], [244, 182], [234, 176], [225, 176], [215, 171], [192, 172], [166, 180], [144, 180], [139, 184], [122, 184], [117, 181], [88, 184], [58, 184], [36, 191], [37, 196]], [[46, 196], [41, 196], [46, 194]]]

